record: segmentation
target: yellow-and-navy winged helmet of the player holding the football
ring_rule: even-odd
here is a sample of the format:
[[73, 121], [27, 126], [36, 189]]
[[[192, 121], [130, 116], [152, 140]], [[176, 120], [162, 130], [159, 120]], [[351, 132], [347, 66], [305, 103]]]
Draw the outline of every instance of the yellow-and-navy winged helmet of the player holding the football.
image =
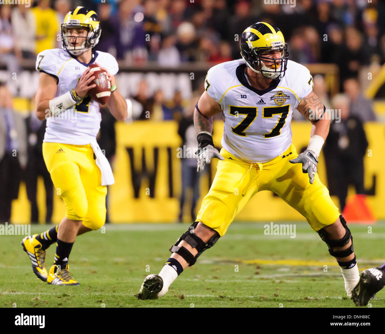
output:
[[[88, 8], [79, 6], [68, 12], [62, 23], [63, 48], [72, 55], [80, 55], [93, 48], [102, 32], [99, 23], [96, 13]], [[85, 29], [87, 34], [74, 33], [74, 28]]]

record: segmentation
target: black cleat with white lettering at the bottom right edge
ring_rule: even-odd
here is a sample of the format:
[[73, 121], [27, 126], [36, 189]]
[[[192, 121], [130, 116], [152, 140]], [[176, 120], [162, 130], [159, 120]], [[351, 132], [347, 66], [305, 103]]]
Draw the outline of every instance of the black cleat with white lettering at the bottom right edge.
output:
[[367, 306], [370, 299], [384, 287], [384, 272], [380, 268], [370, 268], [360, 274], [360, 281], [352, 290], [353, 302], [356, 306]]

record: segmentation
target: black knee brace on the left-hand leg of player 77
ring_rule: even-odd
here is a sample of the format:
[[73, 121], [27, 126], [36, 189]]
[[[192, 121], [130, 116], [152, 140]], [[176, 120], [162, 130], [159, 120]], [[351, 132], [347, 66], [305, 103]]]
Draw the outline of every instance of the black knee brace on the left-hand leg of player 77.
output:
[[[192, 223], [189, 229], [176, 240], [175, 245], [173, 245], [169, 251], [172, 253], [176, 253], [183, 257], [188, 263], [189, 267], [193, 266], [198, 259], [199, 255], [201, 255], [206, 249], [209, 249], [214, 246], [214, 244], [218, 241], [220, 235], [215, 232], [215, 234], [209, 239], [207, 243], [205, 243], [198, 235], [194, 233], [194, 228], [198, 225], [198, 222]], [[191, 247], [195, 248], [198, 251], [196, 256], [192, 255], [192, 253], [185, 247], [179, 247], [178, 244], [181, 240], [184, 240]]]

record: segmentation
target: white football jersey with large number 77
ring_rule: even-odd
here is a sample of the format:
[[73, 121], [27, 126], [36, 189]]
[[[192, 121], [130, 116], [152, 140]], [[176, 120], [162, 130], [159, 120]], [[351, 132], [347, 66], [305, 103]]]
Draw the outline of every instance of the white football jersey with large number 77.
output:
[[211, 67], [206, 92], [224, 113], [222, 147], [247, 162], [267, 162], [291, 144], [293, 110], [313, 89], [309, 70], [288, 60], [285, 76], [258, 90], [246, 79], [242, 59]]

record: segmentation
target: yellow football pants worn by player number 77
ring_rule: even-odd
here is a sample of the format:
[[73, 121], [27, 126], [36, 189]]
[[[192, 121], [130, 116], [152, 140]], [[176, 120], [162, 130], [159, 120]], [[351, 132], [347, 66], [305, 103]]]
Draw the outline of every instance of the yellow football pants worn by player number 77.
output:
[[[291, 164], [298, 154], [294, 145], [264, 163], [241, 161], [224, 149], [213, 184], [202, 201], [197, 221], [223, 236], [246, 203], [261, 190], [271, 190], [303, 215], [315, 231], [333, 224], [340, 213], [329, 191], [315, 174], [313, 184], [302, 164]], [[258, 210], [258, 207], [256, 208]]]

